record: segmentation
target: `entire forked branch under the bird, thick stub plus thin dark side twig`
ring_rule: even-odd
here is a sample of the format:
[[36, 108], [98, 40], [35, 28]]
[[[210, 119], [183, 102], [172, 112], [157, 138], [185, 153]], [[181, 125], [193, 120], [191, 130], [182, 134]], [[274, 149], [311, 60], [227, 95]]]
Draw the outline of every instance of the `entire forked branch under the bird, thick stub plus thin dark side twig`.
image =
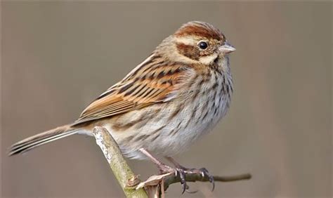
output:
[[[126, 197], [164, 197], [164, 192], [161, 192], [162, 190], [165, 191], [169, 185], [173, 183], [181, 182], [179, 175], [176, 176], [175, 173], [166, 173], [159, 176], [150, 176], [148, 180], [140, 183], [138, 178], [129, 168], [129, 165], [126, 163], [117, 143], [106, 128], [96, 126], [93, 128], [93, 136], [95, 136], [96, 143], [103, 151], [103, 154], [107, 159], [107, 162], [109, 162], [110, 167]], [[216, 182], [229, 182], [236, 180], [249, 180], [251, 177], [252, 176], [247, 173], [237, 176], [214, 176], [214, 180]], [[201, 173], [185, 171], [185, 180], [187, 182], [207, 182], [209, 181], [209, 178]]]

